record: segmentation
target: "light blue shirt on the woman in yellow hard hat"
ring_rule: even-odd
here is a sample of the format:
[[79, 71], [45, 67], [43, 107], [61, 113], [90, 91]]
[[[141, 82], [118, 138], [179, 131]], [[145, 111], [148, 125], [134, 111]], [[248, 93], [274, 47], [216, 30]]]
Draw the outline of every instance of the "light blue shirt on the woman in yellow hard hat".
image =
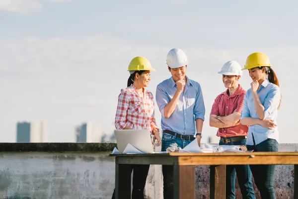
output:
[[[259, 87], [257, 93], [265, 108], [264, 118], [272, 119], [277, 124], [277, 108], [281, 100], [279, 87], [266, 79]], [[250, 89], [246, 92], [240, 119], [242, 120], [244, 117], [259, 118]], [[273, 129], [265, 128], [259, 124], [249, 126], [246, 140], [247, 145], [254, 145], [252, 135], [256, 145], [268, 138], [279, 141], [278, 126]]]

